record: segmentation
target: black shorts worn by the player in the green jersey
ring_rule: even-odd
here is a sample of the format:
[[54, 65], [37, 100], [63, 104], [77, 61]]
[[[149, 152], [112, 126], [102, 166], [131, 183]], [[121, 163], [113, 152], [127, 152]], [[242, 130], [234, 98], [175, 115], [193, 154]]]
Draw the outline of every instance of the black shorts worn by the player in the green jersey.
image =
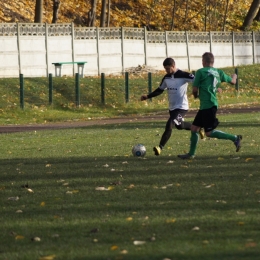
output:
[[192, 124], [204, 128], [205, 132], [212, 131], [219, 124], [219, 121], [216, 118], [217, 111], [218, 109], [216, 106], [199, 110]]

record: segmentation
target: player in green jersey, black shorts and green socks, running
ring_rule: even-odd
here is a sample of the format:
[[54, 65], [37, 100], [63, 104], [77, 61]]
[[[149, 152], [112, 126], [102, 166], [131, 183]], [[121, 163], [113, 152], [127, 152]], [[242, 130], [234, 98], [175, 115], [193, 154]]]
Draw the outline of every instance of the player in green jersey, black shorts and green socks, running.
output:
[[236, 152], [241, 148], [241, 135], [232, 135], [216, 130], [219, 124], [216, 118], [218, 110], [217, 92], [221, 92], [219, 85], [221, 82], [236, 84], [237, 75], [231, 77], [226, 75], [222, 70], [213, 67], [214, 55], [211, 52], [205, 52], [202, 55], [203, 68], [195, 74], [192, 94], [194, 98], [200, 99], [200, 108], [191, 125], [190, 150], [187, 154], [178, 155], [181, 159], [192, 159], [195, 157], [195, 151], [199, 140], [198, 132], [203, 127], [206, 136], [231, 140], [236, 147]]

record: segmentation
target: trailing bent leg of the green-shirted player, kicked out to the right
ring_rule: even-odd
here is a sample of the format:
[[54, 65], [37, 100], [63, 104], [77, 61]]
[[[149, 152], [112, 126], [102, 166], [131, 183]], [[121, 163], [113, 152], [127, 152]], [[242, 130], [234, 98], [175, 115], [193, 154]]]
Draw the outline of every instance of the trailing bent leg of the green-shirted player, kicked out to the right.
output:
[[233, 135], [229, 133], [225, 133], [220, 130], [216, 130], [219, 121], [216, 118], [217, 114], [217, 108], [213, 107], [207, 111], [207, 115], [205, 115], [205, 118], [208, 120], [205, 121], [205, 132], [208, 137], [217, 138], [217, 139], [224, 139], [224, 140], [230, 140], [234, 143], [236, 147], [236, 152], [238, 152], [241, 148], [241, 140], [242, 135]]

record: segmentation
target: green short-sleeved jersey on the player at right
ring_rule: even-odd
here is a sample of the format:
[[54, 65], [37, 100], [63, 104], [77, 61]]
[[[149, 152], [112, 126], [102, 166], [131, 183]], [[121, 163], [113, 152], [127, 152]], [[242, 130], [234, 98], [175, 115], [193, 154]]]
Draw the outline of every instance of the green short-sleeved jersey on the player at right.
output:
[[217, 89], [221, 82], [230, 83], [232, 78], [220, 69], [213, 67], [201, 68], [196, 72], [193, 87], [199, 89], [200, 110], [218, 107], [216, 96]]

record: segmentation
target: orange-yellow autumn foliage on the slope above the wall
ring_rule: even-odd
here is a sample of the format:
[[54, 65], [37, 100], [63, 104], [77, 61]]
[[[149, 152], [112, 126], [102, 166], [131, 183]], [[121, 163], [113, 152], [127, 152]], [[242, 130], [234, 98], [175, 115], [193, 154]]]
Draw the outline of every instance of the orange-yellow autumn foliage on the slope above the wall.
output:
[[253, 14], [253, 20], [243, 26], [250, 16], [250, 7], [259, 0], [5, 0], [0, 3], [0, 22], [34, 22], [38, 1], [43, 2], [42, 22], [46, 23], [73, 22], [75, 26], [90, 27], [146, 26], [148, 30], [156, 31], [260, 29], [257, 19], [260, 13], [257, 12]]

